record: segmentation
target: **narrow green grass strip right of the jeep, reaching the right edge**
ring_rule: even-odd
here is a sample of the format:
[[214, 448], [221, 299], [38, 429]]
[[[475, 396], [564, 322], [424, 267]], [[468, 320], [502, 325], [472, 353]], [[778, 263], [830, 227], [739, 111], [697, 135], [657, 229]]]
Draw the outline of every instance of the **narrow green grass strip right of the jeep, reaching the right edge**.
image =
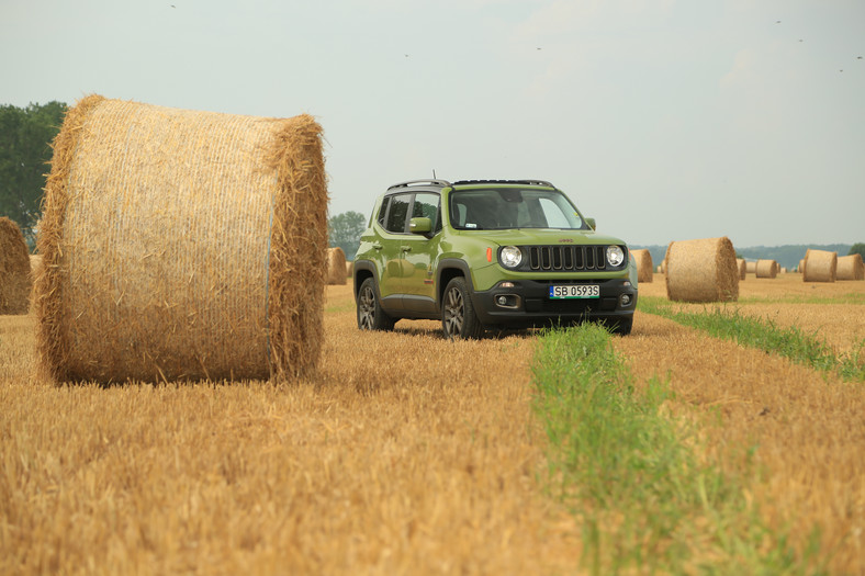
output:
[[835, 372], [846, 381], [865, 381], [865, 341], [858, 342], [850, 353], [835, 355], [823, 340], [796, 326], [779, 327], [771, 319], [744, 316], [727, 306], [686, 312], [675, 309], [674, 304], [658, 296], [641, 296], [638, 306], [641, 312], [704, 330], [714, 337], [779, 354], [823, 372]]

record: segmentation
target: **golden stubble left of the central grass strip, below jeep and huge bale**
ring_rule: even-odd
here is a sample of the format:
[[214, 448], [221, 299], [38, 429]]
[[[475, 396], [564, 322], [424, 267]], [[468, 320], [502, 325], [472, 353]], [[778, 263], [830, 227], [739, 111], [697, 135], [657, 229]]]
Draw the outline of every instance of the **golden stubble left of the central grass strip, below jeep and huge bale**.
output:
[[[0, 573], [526, 574], [575, 565], [542, 496], [528, 337], [360, 332], [315, 380], [56, 387], [0, 318]], [[405, 324], [405, 326], [403, 326]]]

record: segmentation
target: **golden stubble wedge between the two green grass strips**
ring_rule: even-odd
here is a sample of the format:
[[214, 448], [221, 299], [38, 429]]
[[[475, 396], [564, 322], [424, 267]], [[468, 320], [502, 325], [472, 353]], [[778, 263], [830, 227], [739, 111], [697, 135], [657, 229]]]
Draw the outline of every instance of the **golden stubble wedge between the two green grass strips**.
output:
[[669, 377], [673, 414], [697, 422], [726, 472], [751, 474], [746, 496], [769, 526], [789, 523], [799, 551], [819, 527], [830, 572], [865, 573], [862, 383], [639, 312], [633, 334], [613, 342], [639, 384]]

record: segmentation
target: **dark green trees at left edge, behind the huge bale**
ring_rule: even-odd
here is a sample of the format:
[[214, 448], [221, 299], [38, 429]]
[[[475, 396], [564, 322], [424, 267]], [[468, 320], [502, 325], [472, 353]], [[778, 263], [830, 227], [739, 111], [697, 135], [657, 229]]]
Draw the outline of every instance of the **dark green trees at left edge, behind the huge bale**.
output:
[[66, 104], [0, 105], [0, 216], [21, 228], [31, 251], [40, 219], [42, 191]]

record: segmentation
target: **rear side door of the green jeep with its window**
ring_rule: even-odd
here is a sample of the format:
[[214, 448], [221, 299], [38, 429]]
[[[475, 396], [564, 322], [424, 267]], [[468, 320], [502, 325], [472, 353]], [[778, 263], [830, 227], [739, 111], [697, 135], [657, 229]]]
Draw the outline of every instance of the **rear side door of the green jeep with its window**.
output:
[[377, 219], [379, 234], [372, 248], [377, 252], [379, 293], [385, 308], [403, 307], [402, 248], [408, 228], [412, 195], [400, 193], [385, 196]]

